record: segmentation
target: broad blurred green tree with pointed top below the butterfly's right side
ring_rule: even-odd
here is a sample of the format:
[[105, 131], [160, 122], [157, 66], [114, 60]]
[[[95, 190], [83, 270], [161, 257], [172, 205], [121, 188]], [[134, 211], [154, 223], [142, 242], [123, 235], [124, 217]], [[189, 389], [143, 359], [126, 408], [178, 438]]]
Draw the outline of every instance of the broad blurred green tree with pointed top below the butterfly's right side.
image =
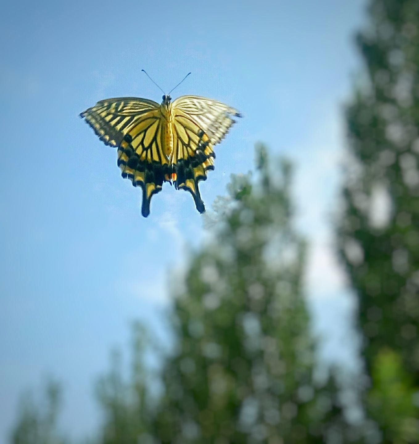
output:
[[257, 159], [257, 181], [233, 176], [212, 241], [191, 258], [175, 298], [158, 442], [356, 441], [334, 380], [322, 385], [313, 374], [291, 167], [276, 166], [264, 147]]

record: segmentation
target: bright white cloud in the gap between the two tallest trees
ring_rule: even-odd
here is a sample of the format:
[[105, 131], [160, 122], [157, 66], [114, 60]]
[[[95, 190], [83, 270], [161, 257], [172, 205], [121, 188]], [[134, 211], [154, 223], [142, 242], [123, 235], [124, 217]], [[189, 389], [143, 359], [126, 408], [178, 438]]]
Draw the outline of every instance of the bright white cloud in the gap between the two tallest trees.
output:
[[[344, 159], [344, 131], [339, 109], [319, 113], [321, 121], [293, 158], [297, 165], [294, 199], [297, 226], [308, 238], [306, 288], [309, 297], [338, 296], [347, 279], [333, 244]], [[324, 118], [324, 115], [328, 115]]]

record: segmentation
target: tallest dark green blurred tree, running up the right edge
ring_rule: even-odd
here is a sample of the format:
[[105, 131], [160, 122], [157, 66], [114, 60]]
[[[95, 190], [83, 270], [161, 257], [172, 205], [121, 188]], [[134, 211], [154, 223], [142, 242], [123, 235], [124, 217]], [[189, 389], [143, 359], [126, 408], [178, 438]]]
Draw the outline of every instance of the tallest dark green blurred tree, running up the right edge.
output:
[[385, 443], [419, 442], [419, 1], [371, 0], [366, 78], [348, 107], [340, 250]]

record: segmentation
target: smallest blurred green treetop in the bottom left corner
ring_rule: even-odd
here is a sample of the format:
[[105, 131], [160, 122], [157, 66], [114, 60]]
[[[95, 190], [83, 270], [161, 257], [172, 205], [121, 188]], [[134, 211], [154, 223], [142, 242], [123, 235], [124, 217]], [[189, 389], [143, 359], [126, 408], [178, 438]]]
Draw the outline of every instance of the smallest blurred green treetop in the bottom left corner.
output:
[[61, 391], [59, 384], [48, 381], [45, 399], [37, 404], [31, 393], [25, 393], [19, 404], [16, 424], [10, 435], [12, 444], [65, 444], [57, 430]]

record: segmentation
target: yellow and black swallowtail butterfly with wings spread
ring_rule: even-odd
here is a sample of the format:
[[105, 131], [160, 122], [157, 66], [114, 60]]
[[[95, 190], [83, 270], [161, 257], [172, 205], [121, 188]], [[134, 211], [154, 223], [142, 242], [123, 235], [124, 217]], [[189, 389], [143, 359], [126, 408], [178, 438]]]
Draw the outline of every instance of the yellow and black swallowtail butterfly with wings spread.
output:
[[105, 145], [117, 147], [122, 177], [142, 188], [144, 217], [163, 182], [189, 191], [197, 210], [205, 211], [198, 182], [214, 169], [213, 147], [231, 128], [233, 117], [241, 117], [236, 109], [205, 97], [171, 100], [166, 94], [161, 104], [136, 97], [105, 99], [80, 114]]

